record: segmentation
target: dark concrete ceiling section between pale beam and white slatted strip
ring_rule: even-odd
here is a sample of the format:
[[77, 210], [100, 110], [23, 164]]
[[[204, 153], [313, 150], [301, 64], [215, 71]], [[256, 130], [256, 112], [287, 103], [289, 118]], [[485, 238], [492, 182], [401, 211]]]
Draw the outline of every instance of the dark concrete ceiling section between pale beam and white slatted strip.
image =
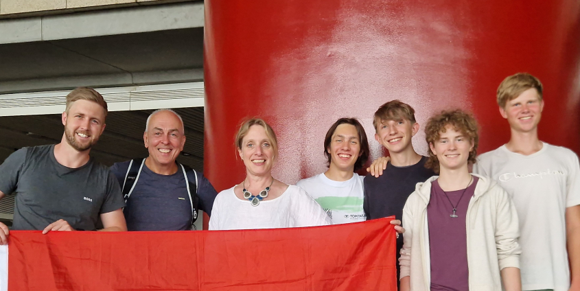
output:
[[0, 64], [0, 93], [199, 81], [203, 27], [4, 44]]

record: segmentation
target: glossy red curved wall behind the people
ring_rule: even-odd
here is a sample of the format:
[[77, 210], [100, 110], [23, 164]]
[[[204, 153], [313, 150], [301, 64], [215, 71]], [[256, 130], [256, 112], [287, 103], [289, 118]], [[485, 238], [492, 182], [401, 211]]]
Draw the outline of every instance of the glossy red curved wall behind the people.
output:
[[[323, 139], [339, 117], [372, 117], [407, 102], [424, 125], [446, 108], [472, 110], [480, 152], [509, 139], [500, 82], [520, 71], [545, 86], [540, 138], [580, 151], [580, 2], [577, 0], [205, 0], [205, 174], [240, 183], [233, 137], [264, 117], [279, 138], [274, 176], [325, 170]], [[427, 150], [421, 130], [413, 145]]]

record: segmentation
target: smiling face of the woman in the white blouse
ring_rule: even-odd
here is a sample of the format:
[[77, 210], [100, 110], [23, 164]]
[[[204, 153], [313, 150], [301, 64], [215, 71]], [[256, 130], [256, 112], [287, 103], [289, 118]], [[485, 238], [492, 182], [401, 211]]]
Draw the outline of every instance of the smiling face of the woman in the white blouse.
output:
[[244, 161], [248, 174], [253, 176], [270, 174], [275, 163], [275, 152], [263, 126], [257, 124], [250, 126], [241, 146], [237, 152]]

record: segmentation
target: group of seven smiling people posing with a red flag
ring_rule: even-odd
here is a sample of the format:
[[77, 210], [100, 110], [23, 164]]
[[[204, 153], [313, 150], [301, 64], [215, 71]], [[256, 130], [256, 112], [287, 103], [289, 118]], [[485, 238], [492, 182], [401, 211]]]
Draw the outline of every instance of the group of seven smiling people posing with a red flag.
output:
[[[110, 169], [93, 161], [106, 102], [78, 88], [67, 96], [60, 143], [22, 148], [0, 165], [0, 198], [16, 194], [12, 229], [43, 233], [187, 230], [198, 210], [209, 215], [210, 230], [395, 216], [401, 290], [580, 290], [580, 164], [571, 150], [538, 139], [542, 94], [533, 75], [507, 77], [497, 102], [511, 139], [480, 156], [470, 113], [430, 117], [428, 156], [421, 156], [411, 143], [419, 132], [415, 110], [386, 102], [373, 126], [388, 157], [367, 176], [356, 173], [369, 159], [367, 134], [357, 119], [340, 118], [324, 139], [328, 170], [297, 185], [272, 177], [275, 132], [248, 119], [235, 136], [246, 177], [217, 194], [202, 174], [176, 163], [185, 132], [169, 109], [147, 120], [146, 159]], [[8, 227], [0, 229], [6, 244]]]

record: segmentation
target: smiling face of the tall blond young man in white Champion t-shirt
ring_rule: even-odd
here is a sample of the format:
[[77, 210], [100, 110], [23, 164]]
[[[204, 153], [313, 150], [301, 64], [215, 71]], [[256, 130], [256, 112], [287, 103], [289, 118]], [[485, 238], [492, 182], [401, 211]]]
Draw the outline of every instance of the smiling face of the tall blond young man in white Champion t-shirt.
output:
[[505, 108], [500, 107], [500, 113], [507, 119], [512, 130], [530, 132], [537, 129], [543, 109], [544, 101], [540, 99], [536, 89], [531, 88], [506, 102]]

